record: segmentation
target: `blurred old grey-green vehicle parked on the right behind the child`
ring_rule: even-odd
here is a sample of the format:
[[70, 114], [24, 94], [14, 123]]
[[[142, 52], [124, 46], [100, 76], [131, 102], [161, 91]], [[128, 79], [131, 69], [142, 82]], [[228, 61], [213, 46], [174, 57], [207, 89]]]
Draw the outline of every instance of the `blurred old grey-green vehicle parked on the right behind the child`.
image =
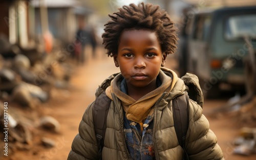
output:
[[[189, 23], [188, 23], [189, 24]], [[201, 11], [193, 16], [179, 68], [198, 75], [205, 97], [245, 88], [247, 37], [256, 48], [256, 6]], [[254, 61], [256, 62], [256, 61]], [[182, 65], [187, 64], [187, 65]]]

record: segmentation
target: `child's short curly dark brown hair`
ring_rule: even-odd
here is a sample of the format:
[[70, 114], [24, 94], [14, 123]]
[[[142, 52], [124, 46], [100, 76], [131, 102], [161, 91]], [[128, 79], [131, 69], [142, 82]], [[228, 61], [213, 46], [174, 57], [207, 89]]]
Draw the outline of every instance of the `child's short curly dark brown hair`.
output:
[[109, 15], [111, 20], [104, 26], [102, 34], [106, 54], [113, 57], [117, 54], [119, 39], [124, 30], [145, 29], [155, 31], [162, 51], [173, 54], [177, 48], [177, 28], [168, 13], [158, 5], [140, 3], [130, 4], [118, 9], [119, 12]]

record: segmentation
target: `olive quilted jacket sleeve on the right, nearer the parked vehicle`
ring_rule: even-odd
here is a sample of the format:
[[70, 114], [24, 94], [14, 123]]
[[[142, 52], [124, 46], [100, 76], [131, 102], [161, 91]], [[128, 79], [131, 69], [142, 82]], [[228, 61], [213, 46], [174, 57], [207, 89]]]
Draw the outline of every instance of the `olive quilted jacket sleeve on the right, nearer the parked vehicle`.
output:
[[195, 101], [189, 100], [189, 124], [185, 149], [189, 159], [224, 159], [217, 137], [209, 129], [209, 122], [202, 114], [202, 108]]

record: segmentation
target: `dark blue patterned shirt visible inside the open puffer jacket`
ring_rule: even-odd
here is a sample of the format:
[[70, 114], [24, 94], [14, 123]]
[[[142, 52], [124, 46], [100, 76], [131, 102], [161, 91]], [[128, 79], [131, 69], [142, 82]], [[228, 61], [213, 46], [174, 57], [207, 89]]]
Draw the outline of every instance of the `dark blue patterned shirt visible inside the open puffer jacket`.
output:
[[[159, 78], [157, 78], [157, 86], [161, 86]], [[120, 84], [120, 90], [127, 94], [125, 79]], [[123, 123], [126, 147], [130, 156], [133, 159], [155, 159], [153, 142], [154, 116], [147, 116], [142, 131], [139, 123], [128, 120], [126, 116], [124, 116]]]

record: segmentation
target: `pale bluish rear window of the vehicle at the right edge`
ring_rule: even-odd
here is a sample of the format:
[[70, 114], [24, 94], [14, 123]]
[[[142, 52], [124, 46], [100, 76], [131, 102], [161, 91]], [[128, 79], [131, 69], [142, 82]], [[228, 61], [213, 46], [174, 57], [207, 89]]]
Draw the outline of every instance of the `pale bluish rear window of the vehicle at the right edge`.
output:
[[234, 15], [226, 20], [225, 38], [237, 39], [244, 36], [256, 38], [256, 14]]

